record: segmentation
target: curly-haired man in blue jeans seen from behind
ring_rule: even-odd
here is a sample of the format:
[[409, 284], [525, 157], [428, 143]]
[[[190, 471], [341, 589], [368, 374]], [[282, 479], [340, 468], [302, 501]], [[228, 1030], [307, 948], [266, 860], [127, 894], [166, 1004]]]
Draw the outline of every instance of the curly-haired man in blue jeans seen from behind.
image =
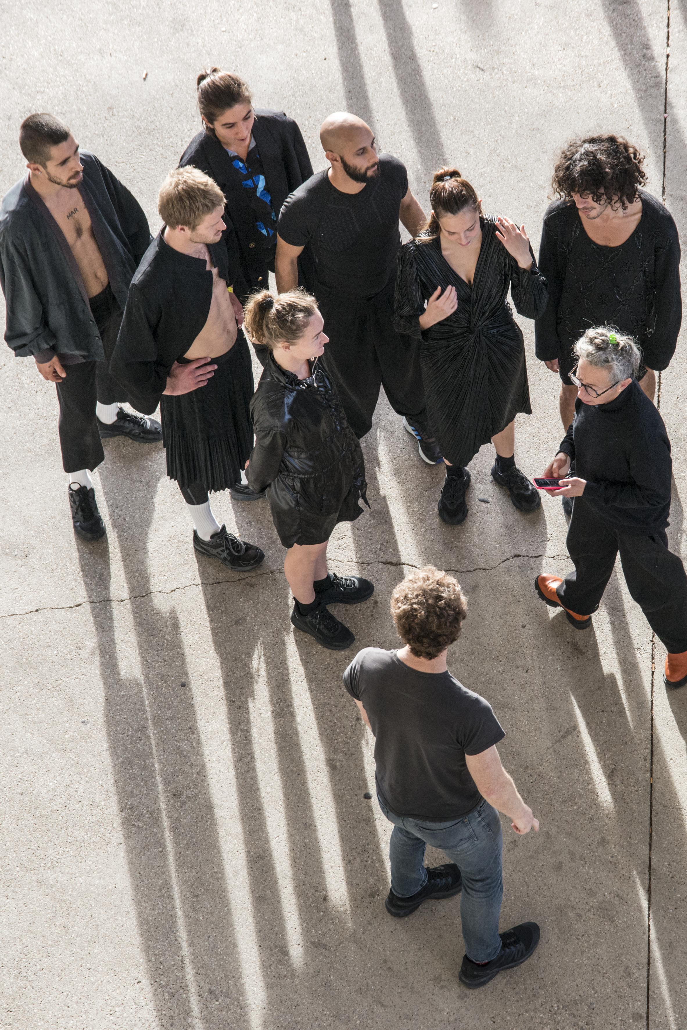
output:
[[[520, 965], [539, 942], [536, 923], [499, 933], [503, 842], [496, 810], [516, 833], [538, 830], [539, 822], [501, 764], [496, 745], [505, 734], [491, 705], [446, 668], [467, 610], [453, 576], [432, 565], [412, 573], [391, 600], [404, 647], [365, 648], [344, 683], [374, 734], [377, 799], [394, 824], [387, 912], [409, 916], [428, 898], [462, 890], [466, 954], [459, 980], [474, 988]], [[426, 868], [428, 844], [450, 863]]]

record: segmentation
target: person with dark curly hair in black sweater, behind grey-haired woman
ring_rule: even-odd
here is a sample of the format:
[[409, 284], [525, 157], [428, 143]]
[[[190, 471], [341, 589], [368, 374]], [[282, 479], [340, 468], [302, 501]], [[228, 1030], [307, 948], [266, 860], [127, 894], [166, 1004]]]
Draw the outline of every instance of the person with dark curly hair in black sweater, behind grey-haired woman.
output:
[[553, 172], [559, 198], [544, 215], [539, 268], [548, 305], [535, 324], [537, 357], [561, 375], [561, 418], [575, 413], [569, 375], [575, 341], [590, 327], [614, 325], [642, 348], [640, 385], [653, 401], [654, 372], [675, 353], [680, 323], [680, 241], [671, 213], [642, 188], [644, 158], [618, 136], [566, 146]]

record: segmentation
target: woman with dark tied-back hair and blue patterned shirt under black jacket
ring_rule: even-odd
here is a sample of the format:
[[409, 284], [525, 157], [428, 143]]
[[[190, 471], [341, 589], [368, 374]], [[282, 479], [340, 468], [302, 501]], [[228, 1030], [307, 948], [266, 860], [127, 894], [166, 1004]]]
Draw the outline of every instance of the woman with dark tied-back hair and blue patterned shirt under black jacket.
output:
[[[225, 240], [234, 293], [243, 303], [252, 290], [267, 286], [282, 204], [311, 177], [313, 166], [296, 123], [283, 111], [256, 110], [238, 75], [210, 68], [196, 82], [203, 129], [179, 165], [205, 172], [226, 197]], [[304, 285], [311, 267], [306, 248], [299, 263]]]

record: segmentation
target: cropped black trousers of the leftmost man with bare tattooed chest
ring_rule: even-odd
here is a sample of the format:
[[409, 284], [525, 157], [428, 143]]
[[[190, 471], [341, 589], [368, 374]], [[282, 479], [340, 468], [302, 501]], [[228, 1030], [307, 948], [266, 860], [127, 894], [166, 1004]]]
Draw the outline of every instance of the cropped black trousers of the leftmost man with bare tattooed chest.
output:
[[130, 400], [126, 390], [109, 373], [122, 315], [109, 285], [91, 298], [91, 309], [103, 341], [105, 360], [65, 364], [66, 378], [56, 383], [65, 472], [96, 469], [105, 457], [96, 421], [96, 401], [115, 404]]

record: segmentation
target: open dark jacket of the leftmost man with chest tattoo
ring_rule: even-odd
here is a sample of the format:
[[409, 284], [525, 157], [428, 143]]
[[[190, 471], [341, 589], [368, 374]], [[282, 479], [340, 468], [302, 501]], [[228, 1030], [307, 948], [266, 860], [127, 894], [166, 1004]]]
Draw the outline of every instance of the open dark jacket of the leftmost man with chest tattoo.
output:
[[[82, 150], [78, 192], [123, 308], [136, 267], [150, 243], [143, 209], [93, 153]], [[0, 283], [7, 302], [5, 340], [20, 357], [69, 354], [103, 360], [103, 343], [78, 265], [64, 233], [27, 176], [0, 208]]]

